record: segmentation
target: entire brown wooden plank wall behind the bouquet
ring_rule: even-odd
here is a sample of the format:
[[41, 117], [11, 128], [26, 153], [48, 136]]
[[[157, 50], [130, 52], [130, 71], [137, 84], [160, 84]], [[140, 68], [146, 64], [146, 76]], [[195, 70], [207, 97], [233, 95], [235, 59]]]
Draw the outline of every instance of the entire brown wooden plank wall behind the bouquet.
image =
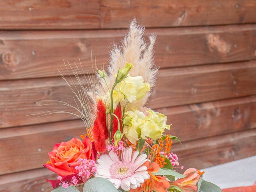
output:
[[[158, 84], [148, 106], [168, 116], [185, 168], [256, 155], [255, 0], [0, 1], [0, 191], [50, 191], [42, 168], [55, 142], [84, 131], [42, 100], [72, 102], [62, 58], [107, 64], [136, 16], [156, 32]], [[56, 109], [56, 107], [54, 107]], [[58, 106], [59, 110], [68, 110]]]

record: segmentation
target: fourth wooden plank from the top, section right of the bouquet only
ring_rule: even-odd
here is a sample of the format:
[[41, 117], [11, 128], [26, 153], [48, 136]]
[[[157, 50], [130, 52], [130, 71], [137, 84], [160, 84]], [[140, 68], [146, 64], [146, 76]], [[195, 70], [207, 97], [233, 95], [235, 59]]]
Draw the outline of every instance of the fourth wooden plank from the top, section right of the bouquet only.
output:
[[168, 124], [166, 134], [176, 135], [182, 142], [228, 134], [254, 128], [255, 97], [220, 100], [172, 108], [162, 108]]

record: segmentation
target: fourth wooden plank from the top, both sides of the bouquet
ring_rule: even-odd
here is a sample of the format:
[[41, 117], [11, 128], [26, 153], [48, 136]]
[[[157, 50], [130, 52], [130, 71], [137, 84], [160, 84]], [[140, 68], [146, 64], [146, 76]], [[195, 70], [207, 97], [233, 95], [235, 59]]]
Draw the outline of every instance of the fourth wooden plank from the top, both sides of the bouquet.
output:
[[[254, 128], [251, 120], [256, 118], [252, 109], [255, 103], [256, 98], [252, 96], [159, 111], [164, 112], [168, 123], [173, 124], [166, 134], [176, 135], [186, 143]], [[84, 124], [81, 120], [2, 129], [0, 174], [40, 168], [48, 160], [47, 152], [52, 149], [54, 143], [83, 133]], [[6, 162], [6, 159], [12, 161]], [[21, 162], [20, 159], [24, 160]]]

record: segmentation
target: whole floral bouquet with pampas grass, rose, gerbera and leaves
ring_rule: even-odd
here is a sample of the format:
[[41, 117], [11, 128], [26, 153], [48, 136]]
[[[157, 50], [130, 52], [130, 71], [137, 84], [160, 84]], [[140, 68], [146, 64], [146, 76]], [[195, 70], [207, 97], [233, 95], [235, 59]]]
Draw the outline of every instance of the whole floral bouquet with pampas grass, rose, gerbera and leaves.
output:
[[86, 133], [82, 140], [56, 143], [48, 153], [44, 166], [59, 175], [47, 180], [52, 192], [221, 192], [202, 179], [204, 172], [176, 171], [183, 166], [171, 149], [180, 140], [164, 134], [171, 126], [164, 114], [144, 107], [158, 69], [153, 58], [156, 36], [151, 34], [147, 43], [143, 34], [144, 27], [133, 20], [122, 46], [112, 48], [106, 71], [82, 77], [77, 66], [71, 68], [79, 88], [62, 75], [76, 106], [59, 104], [78, 111]]

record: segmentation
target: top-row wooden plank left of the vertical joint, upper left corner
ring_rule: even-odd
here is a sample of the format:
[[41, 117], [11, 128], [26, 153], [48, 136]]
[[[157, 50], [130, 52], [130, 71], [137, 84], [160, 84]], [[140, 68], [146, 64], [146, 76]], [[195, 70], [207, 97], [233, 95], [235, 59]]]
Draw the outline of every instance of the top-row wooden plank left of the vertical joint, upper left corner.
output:
[[1, 29], [91, 29], [100, 27], [99, 0], [0, 2]]

